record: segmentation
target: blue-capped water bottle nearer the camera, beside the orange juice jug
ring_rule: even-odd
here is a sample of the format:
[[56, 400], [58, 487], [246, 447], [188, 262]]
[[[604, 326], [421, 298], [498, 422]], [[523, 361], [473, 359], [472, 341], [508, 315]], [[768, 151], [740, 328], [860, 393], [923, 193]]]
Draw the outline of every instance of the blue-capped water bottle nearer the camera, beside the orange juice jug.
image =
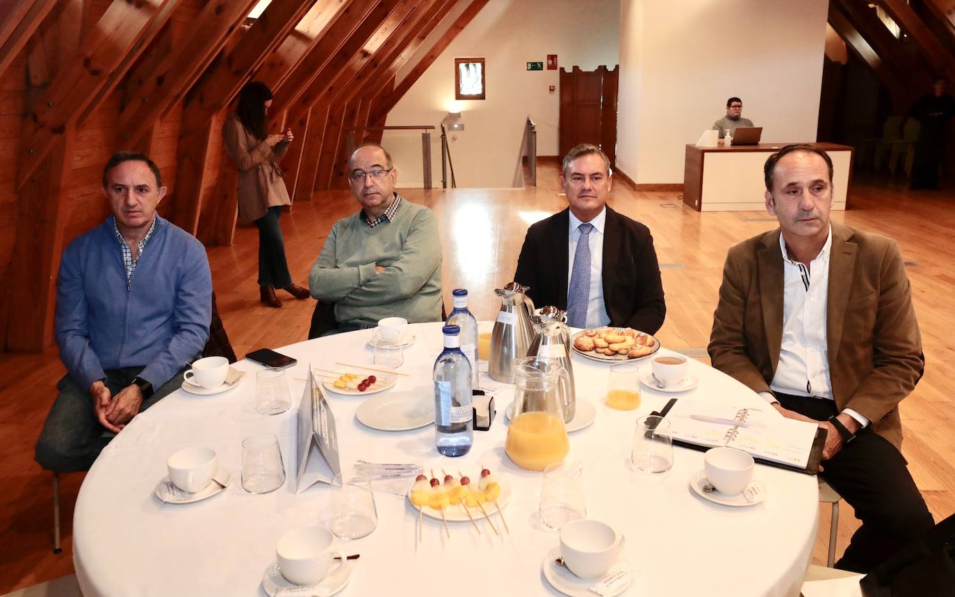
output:
[[471, 428], [471, 362], [461, 352], [457, 326], [445, 326], [444, 351], [435, 360], [435, 446], [444, 456], [464, 456]]

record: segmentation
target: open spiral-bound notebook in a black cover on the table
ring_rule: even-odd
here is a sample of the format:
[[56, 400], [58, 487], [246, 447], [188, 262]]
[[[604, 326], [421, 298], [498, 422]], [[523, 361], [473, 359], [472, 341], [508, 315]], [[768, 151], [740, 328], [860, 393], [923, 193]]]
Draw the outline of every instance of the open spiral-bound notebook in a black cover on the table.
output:
[[727, 446], [755, 460], [810, 475], [818, 471], [825, 431], [763, 408], [737, 408], [672, 398], [661, 411], [673, 443], [698, 450]]

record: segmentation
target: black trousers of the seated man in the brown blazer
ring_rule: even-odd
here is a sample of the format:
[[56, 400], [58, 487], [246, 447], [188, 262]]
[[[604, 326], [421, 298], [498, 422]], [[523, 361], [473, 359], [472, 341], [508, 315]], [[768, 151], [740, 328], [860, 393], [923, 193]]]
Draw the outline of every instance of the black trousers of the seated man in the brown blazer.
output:
[[[832, 400], [775, 396], [783, 408], [819, 421], [837, 413]], [[867, 573], [935, 525], [902, 453], [870, 427], [843, 444], [834, 458], [823, 460], [822, 468], [822, 478], [862, 522], [836, 567]]]

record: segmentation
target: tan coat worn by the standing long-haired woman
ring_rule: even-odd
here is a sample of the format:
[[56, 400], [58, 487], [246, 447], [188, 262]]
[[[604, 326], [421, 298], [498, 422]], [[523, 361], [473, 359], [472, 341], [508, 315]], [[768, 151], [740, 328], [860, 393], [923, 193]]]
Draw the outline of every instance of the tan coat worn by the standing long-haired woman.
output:
[[249, 133], [232, 113], [223, 124], [225, 152], [239, 169], [239, 220], [248, 224], [265, 216], [269, 207], [289, 205], [285, 173], [278, 166], [288, 143], [269, 147]]

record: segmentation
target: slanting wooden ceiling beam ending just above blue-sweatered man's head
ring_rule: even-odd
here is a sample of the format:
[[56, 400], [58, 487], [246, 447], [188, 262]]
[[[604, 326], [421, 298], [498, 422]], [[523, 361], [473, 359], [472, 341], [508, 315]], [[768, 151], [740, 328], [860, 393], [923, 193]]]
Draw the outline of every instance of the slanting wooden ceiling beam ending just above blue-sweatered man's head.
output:
[[159, 117], [176, 104], [222, 49], [257, 0], [209, 0], [185, 40], [173, 47], [119, 114], [119, 135], [135, 144]]

